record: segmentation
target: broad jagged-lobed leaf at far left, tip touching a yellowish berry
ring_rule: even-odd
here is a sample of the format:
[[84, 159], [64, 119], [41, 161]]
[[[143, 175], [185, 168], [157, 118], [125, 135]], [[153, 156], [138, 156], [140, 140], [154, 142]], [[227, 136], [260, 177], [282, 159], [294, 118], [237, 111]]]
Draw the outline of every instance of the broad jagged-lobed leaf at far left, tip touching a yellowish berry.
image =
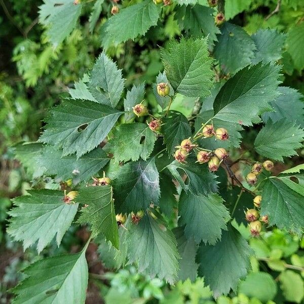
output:
[[15, 207], [7, 232], [16, 241], [22, 241], [24, 250], [38, 241], [40, 253], [56, 236], [57, 245], [68, 230], [77, 212], [78, 204], [63, 202], [63, 191], [30, 190], [29, 195], [13, 200]]

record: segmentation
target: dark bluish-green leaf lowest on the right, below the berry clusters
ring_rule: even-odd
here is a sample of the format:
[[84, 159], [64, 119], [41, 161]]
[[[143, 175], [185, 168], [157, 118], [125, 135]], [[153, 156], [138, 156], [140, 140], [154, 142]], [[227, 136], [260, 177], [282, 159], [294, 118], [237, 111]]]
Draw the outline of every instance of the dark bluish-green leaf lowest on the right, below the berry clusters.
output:
[[252, 251], [247, 241], [231, 225], [214, 246], [201, 244], [197, 254], [199, 276], [204, 276], [214, 297], [228, 294], [230, 289], [236, 291], [239, 280], [250, 268], [250, 254]]

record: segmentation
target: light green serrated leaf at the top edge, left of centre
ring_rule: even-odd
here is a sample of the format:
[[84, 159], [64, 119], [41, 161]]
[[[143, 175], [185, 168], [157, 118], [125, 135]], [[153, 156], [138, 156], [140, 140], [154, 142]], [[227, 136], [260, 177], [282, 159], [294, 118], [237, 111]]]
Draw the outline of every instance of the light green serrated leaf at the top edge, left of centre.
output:
[[118, 45], [129, 39], [134, 40], [137, 36], [145, 34], [151, 26], [157, 25], [160, 11], [161, 6], [150, 0], [122, 9], [106, 22], [103, 42], [110, 41]]

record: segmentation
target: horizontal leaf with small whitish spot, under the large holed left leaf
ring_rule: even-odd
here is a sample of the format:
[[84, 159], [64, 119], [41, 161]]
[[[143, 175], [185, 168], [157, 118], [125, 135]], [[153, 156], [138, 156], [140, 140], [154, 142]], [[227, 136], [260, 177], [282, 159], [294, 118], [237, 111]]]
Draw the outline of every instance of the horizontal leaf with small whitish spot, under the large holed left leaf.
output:
[[48, 145], [35, 161], [42, 168], [43, 174], [55, 175], [60, 180], [72, 178], [73, 184], [91, 178], [110, 160], [100, 147], [79, 159], [75, 155], [61, 156], [62, 150]]

